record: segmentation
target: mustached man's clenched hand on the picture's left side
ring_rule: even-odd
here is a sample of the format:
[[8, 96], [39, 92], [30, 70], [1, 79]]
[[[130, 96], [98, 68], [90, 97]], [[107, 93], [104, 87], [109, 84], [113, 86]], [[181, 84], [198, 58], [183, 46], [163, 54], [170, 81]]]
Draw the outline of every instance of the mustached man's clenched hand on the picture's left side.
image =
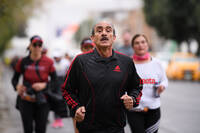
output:
[[79, 107], [76, 110], [76, 113], [75, 113], [75, 117], [74, 117], [75, 120], [77, 122], [82, 122], [84, 120], [84, 118], [85, 118], [85, 112], [86, 112], [86, 110], [85, 110], [84, 106]]

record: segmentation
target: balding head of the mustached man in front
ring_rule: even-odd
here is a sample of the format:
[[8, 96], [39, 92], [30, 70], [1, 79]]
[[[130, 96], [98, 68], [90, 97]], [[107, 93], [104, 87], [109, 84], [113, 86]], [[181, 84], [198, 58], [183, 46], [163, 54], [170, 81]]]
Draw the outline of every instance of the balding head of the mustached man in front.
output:
[[95, 25], [94, 35], [91, 36], [92, 41], [97, 48], [111, 47], [116, 36], [113, 34], [112, 25], [101, 22]]

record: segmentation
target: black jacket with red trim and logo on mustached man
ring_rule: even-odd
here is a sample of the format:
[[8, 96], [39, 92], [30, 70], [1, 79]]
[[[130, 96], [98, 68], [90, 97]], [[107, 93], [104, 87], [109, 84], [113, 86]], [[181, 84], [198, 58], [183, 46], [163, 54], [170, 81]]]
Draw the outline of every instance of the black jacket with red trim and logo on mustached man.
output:
[[132, 59], [113, 50], [109, 58], [97, 50], [78, 55], [72, 62], [63, 86], [63, 97], [75, 114], [85, 106], [86, 115], [77, 127], [87, 130], [123, 128], [125, 107], [120, 97], [128, 93], [139, 104], [142, 86]]

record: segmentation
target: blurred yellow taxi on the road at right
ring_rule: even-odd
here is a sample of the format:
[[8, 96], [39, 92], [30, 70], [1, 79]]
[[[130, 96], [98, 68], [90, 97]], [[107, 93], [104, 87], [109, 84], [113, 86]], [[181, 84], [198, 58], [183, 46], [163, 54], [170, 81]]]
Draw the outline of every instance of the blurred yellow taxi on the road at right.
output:
[[190, 53], [175, 53], [166, 69], [169, 79], [199, 80], [200, 61]]

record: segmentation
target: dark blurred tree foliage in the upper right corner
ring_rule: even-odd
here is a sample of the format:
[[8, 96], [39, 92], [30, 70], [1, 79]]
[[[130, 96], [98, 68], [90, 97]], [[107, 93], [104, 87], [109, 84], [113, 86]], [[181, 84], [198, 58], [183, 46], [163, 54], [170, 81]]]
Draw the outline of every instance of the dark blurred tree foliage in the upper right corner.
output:
[[178, 44], [196, 39], [200, 46], [199, 0], [144, 0], [144, 4], [147, 23], [160, 36], [176, 40]]

